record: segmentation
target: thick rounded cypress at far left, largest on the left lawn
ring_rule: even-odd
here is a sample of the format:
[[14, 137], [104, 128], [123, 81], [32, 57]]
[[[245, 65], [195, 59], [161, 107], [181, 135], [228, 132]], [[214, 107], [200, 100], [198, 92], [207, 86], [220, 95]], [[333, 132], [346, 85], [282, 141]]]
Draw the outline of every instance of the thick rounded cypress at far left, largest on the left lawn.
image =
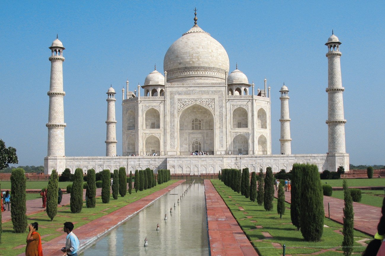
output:
[[25, 201], [26, 188], [25, 173], [22, 168], [12, 170], [11, 174], [11, 219], [13, 224], [13, 231], [15, 233], [24, 233], [27, 228], [27, 206]]

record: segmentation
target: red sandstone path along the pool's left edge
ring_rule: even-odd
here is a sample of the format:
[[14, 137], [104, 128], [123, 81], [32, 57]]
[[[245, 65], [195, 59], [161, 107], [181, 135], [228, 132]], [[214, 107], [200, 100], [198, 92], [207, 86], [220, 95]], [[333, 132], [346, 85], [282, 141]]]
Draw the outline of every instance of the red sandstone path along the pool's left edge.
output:
[[[182, 184], [185, 180], [177, 181], [166, 188], [163, 188], [159, 191], [156, 191], [142, 199], [139, 199], [131, 204], [128, 204], [116, 211], [104, 215], [98, 219], [94, 219], [93, 221], [74, 229], [74, 233], [79, 238], [80, 249], [88, 246], [93, 243], [96, 239], [103, 236], [105, 233], [109, 232], [111, 229], [115, 228], [115, 226], [123, 223], [127, 219], [131, 218], [134, 214], [138, 213], [142, 209], [146, 208], [149, 204], [154, 202], [156, 199], [160, 198], [170, 190], [176, 188], [180, 184]], [[65, 237], [67, 234], [62, 234], [61, 236], [52, 239], [51, 241], [43, 244], [43, 252], [44, 256], [63, 256], [66, 255], [60, 251], [65, 245]], [[19, 256], [23, 256], [25, 254], [20, 254]]]

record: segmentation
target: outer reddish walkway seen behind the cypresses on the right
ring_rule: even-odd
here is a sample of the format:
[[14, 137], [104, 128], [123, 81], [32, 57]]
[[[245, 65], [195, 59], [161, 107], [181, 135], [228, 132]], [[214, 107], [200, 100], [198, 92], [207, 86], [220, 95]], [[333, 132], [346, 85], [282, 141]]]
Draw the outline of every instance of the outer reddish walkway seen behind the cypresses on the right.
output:
[[[277, 191], [275, 191], [277, 197]], [[285, 201], [291, 203], [290, 192], [285, 192]], [[323, 208], [325, 216], [329, 217], [328, 203], [330, 203], [330, 219], [343, 224], [344, 200], [331, 196], [323, 196]], [[354, 229], [365, 234], [374, 236], [377, 233], [377, 224], [381, 218], [381, 208], [353, 202], [354, 209]]]

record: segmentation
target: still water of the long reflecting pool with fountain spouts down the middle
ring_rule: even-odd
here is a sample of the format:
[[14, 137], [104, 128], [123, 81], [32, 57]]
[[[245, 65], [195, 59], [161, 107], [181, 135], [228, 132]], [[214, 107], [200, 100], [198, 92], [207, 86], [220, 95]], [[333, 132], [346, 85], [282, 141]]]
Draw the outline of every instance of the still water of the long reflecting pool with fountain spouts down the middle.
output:
[[203, 181], [194, 182], [180, 199], [190, 183], [177, 186], [79, 255], [209, 255]]

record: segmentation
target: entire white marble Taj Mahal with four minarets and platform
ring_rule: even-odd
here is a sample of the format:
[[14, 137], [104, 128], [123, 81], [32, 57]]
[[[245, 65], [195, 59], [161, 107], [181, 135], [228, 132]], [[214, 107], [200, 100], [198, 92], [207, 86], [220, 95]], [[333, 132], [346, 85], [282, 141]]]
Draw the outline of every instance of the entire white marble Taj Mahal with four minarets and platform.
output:
[[[331, 35], [328, 46], [328, 154], [292, 155], [289, 95], [281, 93], [281, 155], [271, 155], [270, 87], [266, 79], [254, 88], [238, 69], [229, 71], [223, 46], [195, 25], [176, 40], [164, 56], [164, 75], [155, 70], [134, 92], [122, 89], [122, 156], [116, 156], [115, 90], [107, 91], [107, 139], [104, 157], [71, 157], [64, 153], [64, 91], [62, 56], [65, 49], [56, 39], [50, 47], [51, 80], [48, 156], [45, 172], [64, 168], [169, 169], [171, 173], [218, 173], [222, 168], [250, 171], [291, 170], [293, 163], [314, 163], [320, 171], [348, 170], [345, 151], [339, 45]], [[140, 91], [144, 90], [144, 96]], [[325, 110], [326, 111], [326, 110]], [[278, 138], [277, 138], [278, 139]], [[208, 156], [191, 156], [192, 152]], [[157, 156], [149, 156], [156, 154]], [[120, 155], [120, 154], [119, 154]]]

